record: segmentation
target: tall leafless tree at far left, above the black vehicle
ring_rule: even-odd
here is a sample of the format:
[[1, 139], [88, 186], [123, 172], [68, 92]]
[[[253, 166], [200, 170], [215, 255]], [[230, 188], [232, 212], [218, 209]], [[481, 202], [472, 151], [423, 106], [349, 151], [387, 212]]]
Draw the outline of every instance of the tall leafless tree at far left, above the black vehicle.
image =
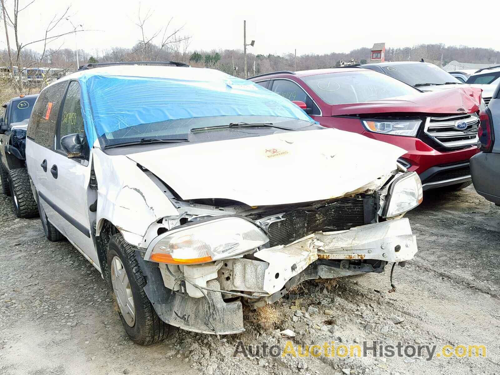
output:
[[[56, 49], [51, 49], [48, 50], [47, 46], [49, 43], [54, 42], [58, 38], [73, 33], [73, 32], [78, 32], [78, 31], [83, 31], [83, 30], [71, 30], [67, 32], [60, 32], [57, 31], [57, 26], [60, 24], [60, 21], [66, 17], [68, 17], [68, 12], [70, 5], [68, 5], [66, 8], [64, 8], [60, 13], [56, 13], [53, 15], [53, 17], [50, 19], [48, 22], [45, 32], [43, 34], [42, 38], [35, 39], [32, 41], [28, 41], [26, 43], [23, 43], [22, 41], [19, 40], [19, 14], [29, 7], [34, 1], [36, 0], [30, 0], [27, 4], [25, 5], [19, 5], [19, 0], [13, 0], [13, 7], [12, 10], [9, 12], [8, 9], [5, 7], [6, 0], [0, 0], [1, 7], [2, 7], [2, 15], [3, 15], [3, 24], [5, 27], [5, 38], [7, 41], [7, 56], [8, 56], [8, 65], [10, 68], [10, 74], [12, 78], [12, 84], [15, 87], [16, 91], [20, 93], [23, 90], [24, 87], [24, 82], [23, 82], [23, 69], [25, 67], [31, 67], [35, 65], [36, 63], [41, 63], [43, 59], [46, 57], [50, 57], [53, 55], [56, 51], [60, 49], [60, 46]], [[13, 31], [13, 38], [15, 42], [15, 49], [12, 49], [10, 47], [10, 36], [9, 36], [9, 29]], [[27, 46], [35, 43], [43, 43], [43, 49], [42, 52], [37, 55], [36, 59], [31, 59], [29, 61], [25, 61], [23, 57], [25, 56], [22, 52], [24, 49], [26, 49]], [[14, 69], [15, 67], [15, 69]], [[15, 75], [15, 74], [16, 75]]]

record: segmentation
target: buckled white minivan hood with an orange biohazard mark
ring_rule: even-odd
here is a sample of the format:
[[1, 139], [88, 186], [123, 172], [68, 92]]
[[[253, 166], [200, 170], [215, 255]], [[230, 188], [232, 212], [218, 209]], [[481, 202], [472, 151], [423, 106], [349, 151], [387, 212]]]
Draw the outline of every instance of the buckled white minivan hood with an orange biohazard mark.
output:
[[390, 173], [405, 152], [325, 128], [180, 144], [127, 156], [183, 200], [226, 198], [254, 206], [342, 196]]

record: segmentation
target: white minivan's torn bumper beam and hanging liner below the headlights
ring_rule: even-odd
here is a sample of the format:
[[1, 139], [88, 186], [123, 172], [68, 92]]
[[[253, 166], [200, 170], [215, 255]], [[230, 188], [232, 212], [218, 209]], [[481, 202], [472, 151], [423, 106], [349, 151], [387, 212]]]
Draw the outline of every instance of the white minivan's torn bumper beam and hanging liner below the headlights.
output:
[[[416, 251], [415, 236], [407, 218], [344, 231], [316, 232], [286, 246], [256, 251], [251, 258], [211, 263], [212, 279], [190, 279], [205, 288], [202, 296], [198, 290], [190, 295], [185, 284], [173, 288], [180, 292], [166, 287], [170, 282], [166, 267], [137, 257], [147, 279], [144, 291], [160, 319], [186, 330], [228, 334], [244, 330], [243, 314], [240, 300], [227, 299], [232, 295], [224, 291], [247, 294], [250, 297], [247, 302], [259, 307], [273, 303], [303, 280], [380, 272], [385, 262], [411, 259]], [[375, 262], [366, 262], [369, 259]], [[377, 262], [382, 265], [373, 267]], [[198, 266], [206, 268], [209, 264]], [[206, 274], [212, 273], [203, 273]], [[186, 274], [183, 277], [187, 279]]]

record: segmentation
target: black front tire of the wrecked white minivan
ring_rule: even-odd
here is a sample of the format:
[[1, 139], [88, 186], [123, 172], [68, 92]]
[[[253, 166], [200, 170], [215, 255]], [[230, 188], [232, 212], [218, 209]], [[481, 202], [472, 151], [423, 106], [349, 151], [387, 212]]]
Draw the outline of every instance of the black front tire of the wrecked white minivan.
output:
[[[135, 246], [132, 246], [123, 239], [120, 233], [114, 234], [109, 239], [107, 249], [107, 269], [106, 278], [113, 289], [113, 295], [116, 304], [118, 305], [119, 316], [126, 333], [132, 341], [140, 345], [150, 345], [162, 341], [168, 336], [170, 325], [162, 321], [147, 298], [144, 291], [146, 280], [135, 258]], [[121, 262], [121, 269], [125, 270], [130, 288], [130, 294], [133, 299], [134, 318], [122, 315], [123, 309], [119, 302], [119, 297], [116, 294], [121, 294], [118, 289], [115, 290], [112, 282], [112, 274], [116, 273], [112, 269], [113, 260], [118, 258]], [[119, 272], [118, 270], [118, 272]], [[120, 297], [123, 300], [122, 297]], [[128, 298], [129, 300], [129, 298]], [[127, 322], [128, 320], [128, 322]]]

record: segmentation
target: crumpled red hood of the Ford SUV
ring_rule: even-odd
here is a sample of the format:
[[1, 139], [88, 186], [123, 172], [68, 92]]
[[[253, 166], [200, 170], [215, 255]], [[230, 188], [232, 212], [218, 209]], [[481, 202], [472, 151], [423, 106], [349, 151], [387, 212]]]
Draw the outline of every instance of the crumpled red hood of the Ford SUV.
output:
[[[481, 90], [458, 84], [446, 90], [398, 96], [365, 103], [332, 105], [331, 115], [418, 112], [418, 113], [472, 113], [479, 110]], [[429, 86], [444, 87], [444, 86]]]

